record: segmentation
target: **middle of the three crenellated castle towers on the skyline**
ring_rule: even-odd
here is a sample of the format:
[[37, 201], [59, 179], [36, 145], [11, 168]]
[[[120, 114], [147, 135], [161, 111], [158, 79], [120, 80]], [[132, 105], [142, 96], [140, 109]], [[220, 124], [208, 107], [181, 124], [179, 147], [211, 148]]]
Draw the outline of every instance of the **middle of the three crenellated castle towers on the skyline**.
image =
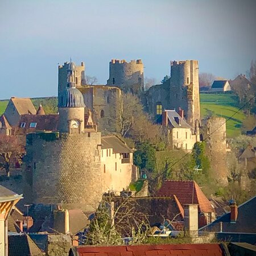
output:
[[142, 60], [112, 60], [109, 63], [107, 84], [126, 92], [138, 94], [144, 90], [144, 68]]

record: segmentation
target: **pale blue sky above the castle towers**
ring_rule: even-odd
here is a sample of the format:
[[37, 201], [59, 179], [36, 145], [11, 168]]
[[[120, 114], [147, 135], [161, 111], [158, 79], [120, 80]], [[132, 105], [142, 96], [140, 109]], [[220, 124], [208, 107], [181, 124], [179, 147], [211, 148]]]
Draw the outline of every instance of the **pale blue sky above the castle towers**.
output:
[[142, 59], [160, 81], [170, 60], [233, 78], [256, 59], [253, 0], [1, 0], [0, 98], [57, 95], [57, 64], [85, 61], [105, 84], [111, 59]]

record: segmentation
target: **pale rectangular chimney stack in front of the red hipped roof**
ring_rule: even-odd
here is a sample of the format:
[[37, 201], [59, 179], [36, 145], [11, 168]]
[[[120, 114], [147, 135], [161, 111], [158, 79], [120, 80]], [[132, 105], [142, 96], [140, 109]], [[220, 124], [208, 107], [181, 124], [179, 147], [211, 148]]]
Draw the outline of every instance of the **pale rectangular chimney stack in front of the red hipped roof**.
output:
[[184, 231], [188, 237], [198, 236], [198, 205], [184, 205]]

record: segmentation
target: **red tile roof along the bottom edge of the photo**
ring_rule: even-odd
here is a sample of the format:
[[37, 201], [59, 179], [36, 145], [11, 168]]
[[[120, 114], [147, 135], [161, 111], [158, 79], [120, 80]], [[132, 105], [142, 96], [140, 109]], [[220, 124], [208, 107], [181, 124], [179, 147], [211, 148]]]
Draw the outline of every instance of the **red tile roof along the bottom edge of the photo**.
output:
[[222, 256], [224, 252], [217, 243], [138, 246], [79, 246], [73, 249], [79, 256], [133, 256], [133, 255], [191, 255]]

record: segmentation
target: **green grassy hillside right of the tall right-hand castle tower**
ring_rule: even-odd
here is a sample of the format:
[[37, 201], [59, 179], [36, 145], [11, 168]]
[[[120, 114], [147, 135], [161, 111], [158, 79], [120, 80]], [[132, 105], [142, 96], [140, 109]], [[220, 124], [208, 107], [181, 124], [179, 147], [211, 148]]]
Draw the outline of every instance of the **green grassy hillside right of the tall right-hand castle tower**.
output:
[[[239, 109], [238, 100], [234, 94], [201, 93], [200, 103], [201, 117], [207, 117], [207, 115], [212, 114], [215, 117], [228, 119]], [[226, 123], [226, 133], [229, 138], [241, 134], [240, 127], [244, 118], [245, 115], [240, 110]]]

